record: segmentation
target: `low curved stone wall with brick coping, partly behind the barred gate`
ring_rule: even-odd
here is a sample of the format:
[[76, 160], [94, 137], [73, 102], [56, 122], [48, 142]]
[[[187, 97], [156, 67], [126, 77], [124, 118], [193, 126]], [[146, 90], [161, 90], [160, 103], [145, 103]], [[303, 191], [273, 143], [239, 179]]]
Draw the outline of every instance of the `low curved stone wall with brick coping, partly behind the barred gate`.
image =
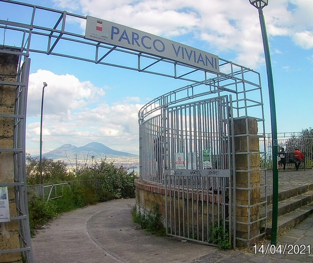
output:
[[[169, 234], [184, 236], [187, 238], [201, 241], [204, 240], [205, 242], [208, 242], [207, 227], [209, 227], [210, 229], [213, 225], [212, 215], [214, 214], [214, 221], [216, 222], [218, 219], [218, 213], [219, 218], [222, 219], [223, 210], [221, 205], [222, 203], [221, 195], [219, 196], [217, 196], [217, 194], [212, 195], [212, 193], [207, 195], [202, 194], [201, 191], [199, 191], [197, 196], [196, 193], [187, 194], [187, 191], [185, 189], [184, 194], [182, 194], [182, 190], [180, 190], [178, 198], [178, 190], [176, 190], [175, 193], [174, 190], [171, 191], [168, 190], [167, 192], [168, 222], [166, 224], [165, 188], [163, 188], [159, 184], [148, 183], [140, 180], [135, 180], [135, 186], [136, 186], [137, 211], [141, 213], [146, 213], [148, 211], [151, 211], [151, 209], [153, 209], [157, 205], [159, 212], [161, 214], [162, 224], [164, 225], [165, 228], [166, 227], [168, 228]], [[228, 211], [225, 212], [226, 212], [225, 216], [228, 217]], [[203, 229], [202, 221], [205, 222], [203, 224]], [[192, 232], [194, 234], [192, 234]]]

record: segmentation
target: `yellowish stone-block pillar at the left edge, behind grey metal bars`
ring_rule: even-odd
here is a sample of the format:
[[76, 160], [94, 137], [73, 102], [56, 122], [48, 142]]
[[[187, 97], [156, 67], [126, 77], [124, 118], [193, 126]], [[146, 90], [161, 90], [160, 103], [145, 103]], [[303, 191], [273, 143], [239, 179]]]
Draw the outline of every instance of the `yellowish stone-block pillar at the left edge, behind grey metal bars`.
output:
[[[0, 80], [16, 82], [19, 56], [0, 53]], [[14, 114], [15, 89], [0, 85], [0, 113]], [[14, 118], [0, 117], [0, 148], [13, 148]], [[13, 152], [0, 152], [0, 182], [14, 182]], [[16, 216], [14, 187], [8, 187], [10, 216]], [[20, 248], [18, 220], [0, 223], [0, 250]], [[0, 254], [0, 262], [22, 262], [21, 253]]]

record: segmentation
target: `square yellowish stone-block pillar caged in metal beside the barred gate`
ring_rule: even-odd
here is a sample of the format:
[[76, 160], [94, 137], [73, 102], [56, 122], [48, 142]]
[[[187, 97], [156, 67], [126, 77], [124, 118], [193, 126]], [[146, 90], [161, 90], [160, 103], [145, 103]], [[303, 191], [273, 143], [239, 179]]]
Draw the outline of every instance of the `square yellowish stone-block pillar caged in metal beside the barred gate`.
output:
[[[260, 154], [258, 123], [253, 118], [240, 117], [234, 119], [235, 163], [236, 163], [236, 237], [249, 241], [237, 240], [237, 247], [249, 246], [254, 243], [255, 236], [260, 234], [259, 219], [260, 203]], [[241, 188], [241, 189], [238, 189]], [[248, 223], [248, 224], [242, 224]], [[254, 238], [254, 239], [253, 239]]]

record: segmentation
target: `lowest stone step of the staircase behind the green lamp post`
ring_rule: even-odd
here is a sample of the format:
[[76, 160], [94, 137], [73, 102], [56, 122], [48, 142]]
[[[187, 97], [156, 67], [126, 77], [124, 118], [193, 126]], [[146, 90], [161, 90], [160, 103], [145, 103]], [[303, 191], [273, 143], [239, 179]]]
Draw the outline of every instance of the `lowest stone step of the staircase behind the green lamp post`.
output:
[[[293, 228], [296, 224], [303, 221], [310, 214], [313, 213], [313, 203], [307, 204], [300, 208], [295, 209], [287, 214], [278, 217], [277, 235], [281, 235], [285, 231]], [[267, 223], [266, 235], [271, 235], [272, 222]]]

